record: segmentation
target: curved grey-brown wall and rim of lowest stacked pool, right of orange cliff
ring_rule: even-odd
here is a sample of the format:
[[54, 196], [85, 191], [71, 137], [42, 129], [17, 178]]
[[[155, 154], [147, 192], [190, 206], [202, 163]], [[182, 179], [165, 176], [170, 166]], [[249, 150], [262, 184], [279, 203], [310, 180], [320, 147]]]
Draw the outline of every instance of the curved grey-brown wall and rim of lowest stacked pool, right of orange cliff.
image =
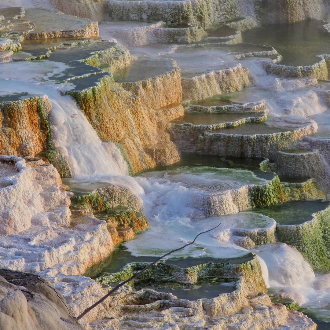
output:
[[[280, 124], [281, 119], [277, 118], [277, 124]], [[283, 117], [284, 122], [288, 118], [290, 116]], [[223, 133], [206, 132], [204, 136], [200, 137], [196, 150], [210, 155], [266, 157], [274, 160], [277, 151], [294, 149], [299, 140], [317, 130], [317, 124], [314, 120], [298, 116], [292, 119], [291, 125], [296, 123], [300, 127], [287, 132], [255, 135], [226, 134], [225, 129]], [[288, 122], [287, 127], [290, 125]]]

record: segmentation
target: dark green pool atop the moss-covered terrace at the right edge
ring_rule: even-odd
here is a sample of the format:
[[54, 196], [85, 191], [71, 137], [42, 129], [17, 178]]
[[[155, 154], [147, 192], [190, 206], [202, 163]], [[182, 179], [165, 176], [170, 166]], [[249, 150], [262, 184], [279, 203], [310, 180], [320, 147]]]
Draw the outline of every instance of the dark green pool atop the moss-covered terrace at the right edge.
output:
[[312, 214], [322, 211], [330, 201], [315, 199], [312, 201], [289, 201], [275, 205], [252, 209], [252, 212], [267, 215], [281, 225], [297, 225], [312, 220]]

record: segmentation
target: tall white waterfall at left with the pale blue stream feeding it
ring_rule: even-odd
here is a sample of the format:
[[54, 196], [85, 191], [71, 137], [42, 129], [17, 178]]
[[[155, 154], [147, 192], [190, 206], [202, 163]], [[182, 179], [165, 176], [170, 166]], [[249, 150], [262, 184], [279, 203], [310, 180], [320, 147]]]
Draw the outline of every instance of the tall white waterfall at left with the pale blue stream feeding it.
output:
[[[29, 65], [26, 65], [29, 64]], [[70, 96], [61, 96], [59, 86], [48, 80], [52, 75], [60, 75], [67, 67], [58, 63], [10, 63], [0, 73], [2, 93], [27, 91], [31, 94], [48, 95], [51, 111], [51, 133], [53, 143], [61, 148], [69, 160], [74, 177], [90, 175], [128, 174], [127, 163], [114, 143], [101, 142], [82, 111]], [[7, 80], [8, 71], [11, 80]], [[24, 83], [21, 82], [24, 77]], [[44, 82], [41, 82], [44, 80]], [[46, 80], [46, 82], [45, 82]]]

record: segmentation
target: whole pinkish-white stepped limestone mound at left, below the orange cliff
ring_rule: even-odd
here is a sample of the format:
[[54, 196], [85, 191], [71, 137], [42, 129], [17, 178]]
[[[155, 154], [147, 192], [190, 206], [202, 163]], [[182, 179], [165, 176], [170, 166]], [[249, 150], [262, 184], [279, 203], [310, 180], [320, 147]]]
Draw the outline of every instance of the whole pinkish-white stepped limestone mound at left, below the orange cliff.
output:
[[72, 222], [71, 193], [61, 190], [61, 179], [51, 164], [34, 158], [27, 163], [15, 156], [0, 158], [0, 267], [81, 274], [113, 249], [104, 221], [85, 214]]

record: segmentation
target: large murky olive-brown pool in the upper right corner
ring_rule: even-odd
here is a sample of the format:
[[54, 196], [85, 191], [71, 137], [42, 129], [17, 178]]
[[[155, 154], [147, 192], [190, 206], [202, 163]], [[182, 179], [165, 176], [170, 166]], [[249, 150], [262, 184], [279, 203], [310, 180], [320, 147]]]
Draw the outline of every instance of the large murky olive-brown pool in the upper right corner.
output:
[[311, 19], [296, 23], [268, 24], [242, 32], [243, 42], [274, 47], [283, 56], [280, 64], [312, 65], [328, 54], [330, 35], [324, 21]]

